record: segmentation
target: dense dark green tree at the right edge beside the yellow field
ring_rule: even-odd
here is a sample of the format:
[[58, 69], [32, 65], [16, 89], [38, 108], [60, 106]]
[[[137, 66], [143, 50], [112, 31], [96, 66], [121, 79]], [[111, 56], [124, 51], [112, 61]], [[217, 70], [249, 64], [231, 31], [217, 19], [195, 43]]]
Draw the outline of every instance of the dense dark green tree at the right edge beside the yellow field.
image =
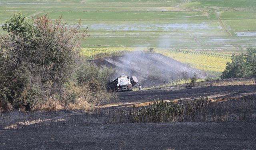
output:
[[256, 76], [256, 48], [247, 48], [246, 54], [232, 55], [221, 78], [242, 78]]

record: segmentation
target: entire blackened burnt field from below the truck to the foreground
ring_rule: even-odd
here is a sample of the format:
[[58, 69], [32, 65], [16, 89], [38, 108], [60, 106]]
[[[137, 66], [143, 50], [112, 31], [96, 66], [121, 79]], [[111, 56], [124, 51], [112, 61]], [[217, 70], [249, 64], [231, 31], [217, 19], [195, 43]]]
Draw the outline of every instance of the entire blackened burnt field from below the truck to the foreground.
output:
[[[0, 138], [4, 140], [0, 148], [255, 149], [255, 81], [256, 78], [216, 80], [198, 82], [192, 89], [185, 89], [184, 85], [179, 85], [120, 92], [118, 100], [101, 108], [100, 114], [78, 110], [2, 113], [6, 121], [1, 118]], [[232, 85], [232, 82], [241, 85]], [[225, 85], [226, 83], [230, 85]], [[186, 104], [204, 96], [208, 96], [208, 101], [204, 99], [200, 109], [192, 111], [194, 114], [189, 116], [189, 113], [182, 112], [183, 119], [187, 120], [179, 120], [182, 117], [176, 116], [172, 119], [177, 120], [151, 120], [157, 123], [146, 123], [143, 119], [145, 114], [140, 113], [141, 108], [149, 112], [146, 104], [152, 103], [156, 98], [169, 100], [175, 105]], [[216, 101], [207, 106], [210, 99]], [[197, 102], [202, 104], [202, 100]], [[110, 115], [106, 113], [108, 110]], [[137, 114], [133, 116], [132, 122], [125, 116], [125, 112], [129, 115], [130, 110]], [[212, 110], [217, 110], [219, 120], [210, 120], [214, 114]], [[16, 120], [15, 116], [23, 119]], [[193, 120], [189, 118], [191, 116], [198, 118]], [[136, 117], [139, 120], [136, 120]], [[204, 117], [206, 120], [203, 120]], [[143, 120], [145, 123], [141, 123]], [[9, 129], [6, 128], [8, 126]]]

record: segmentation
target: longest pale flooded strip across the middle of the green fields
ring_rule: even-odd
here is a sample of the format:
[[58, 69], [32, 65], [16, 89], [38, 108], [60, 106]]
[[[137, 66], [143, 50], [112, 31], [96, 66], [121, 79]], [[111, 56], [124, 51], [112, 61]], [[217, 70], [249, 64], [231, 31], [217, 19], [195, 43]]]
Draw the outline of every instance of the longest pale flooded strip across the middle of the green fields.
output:
[[[209, 24], [202, 22], [200, 24], [170, 23], [170, 24], [91, 24], [89, 30], [107, 30], [107, 31], [194, 31], [218, 29], [210, 27]], [[82, 26], [84, 28], [87, 25]]]

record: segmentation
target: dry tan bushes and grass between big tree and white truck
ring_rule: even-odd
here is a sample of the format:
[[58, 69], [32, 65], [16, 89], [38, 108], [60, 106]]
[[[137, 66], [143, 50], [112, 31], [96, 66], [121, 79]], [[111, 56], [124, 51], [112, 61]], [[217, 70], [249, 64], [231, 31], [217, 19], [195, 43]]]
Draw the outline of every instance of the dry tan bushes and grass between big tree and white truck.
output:
[[[48, 97], [42, 103], [35, 106], [33, 111], [75, 109], [93, 111], [95, 106], [109, 104], [113, 100], [116, 100], [116, 94], [102, 90], [96, 80], [80, 86], [69, 83], [61, 94], [56, 93]], [[97, 112], [99, 111], [100, 109], [97, 109]]]

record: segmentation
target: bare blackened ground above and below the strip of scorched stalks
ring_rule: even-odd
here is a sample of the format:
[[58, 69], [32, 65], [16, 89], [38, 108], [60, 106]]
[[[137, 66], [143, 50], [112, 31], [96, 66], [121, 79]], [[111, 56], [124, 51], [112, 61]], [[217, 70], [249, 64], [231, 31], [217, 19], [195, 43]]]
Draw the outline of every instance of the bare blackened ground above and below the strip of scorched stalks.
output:
[[[108, 107], [132, 107], [132, 104], [152, 102], [155, 98], [190, 101], [203, 96], [247, 98], [255, 104], [255, 82], [255, 77], [240, 78], [198, 82], [192, 89], [178, 85], [120, 92], [118, 101]], [[96, 122], [83, 125], [72, 119], [81, 115], [94, 117], [82, 111], [1, 112], [7, 121], [0, 120], [0, 138], [3, 139], [0, 149], [255, 149], [255, 110], [254, 105], [251, 120], [109, 125]], [[24, 120], [16, 120], [17, 116]], [[68, 126], [63, 120], [70, 117], [74, 122]], [[20, 124], [21, 128], [5, 128], [11, 124]]]

